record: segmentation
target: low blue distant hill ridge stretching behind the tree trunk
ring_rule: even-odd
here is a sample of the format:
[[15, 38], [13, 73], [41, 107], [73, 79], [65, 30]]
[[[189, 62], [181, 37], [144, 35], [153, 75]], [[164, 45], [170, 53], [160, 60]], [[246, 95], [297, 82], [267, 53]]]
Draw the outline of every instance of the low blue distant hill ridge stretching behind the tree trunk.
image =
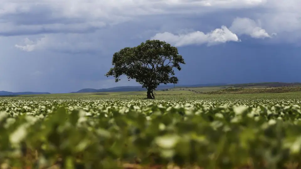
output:
[[[164, 89], [170, 89], [170, 88], [179, 88], [179, 87], [206, 87], [206, 86], [224, 86], [228, 85], [225, 83], [222, 84], [200, 84], [200, 85], [159, 85], [156, 90], [164, 90]], [[95, 93], [95, 92], [125, 92], [125, 91], [146, 91], [145, 88], [142, 88], [142, 86], [120, 86], [120, 87], [111, 87], [107, 89], [81, 89], [76, 92], [71, 93]]]

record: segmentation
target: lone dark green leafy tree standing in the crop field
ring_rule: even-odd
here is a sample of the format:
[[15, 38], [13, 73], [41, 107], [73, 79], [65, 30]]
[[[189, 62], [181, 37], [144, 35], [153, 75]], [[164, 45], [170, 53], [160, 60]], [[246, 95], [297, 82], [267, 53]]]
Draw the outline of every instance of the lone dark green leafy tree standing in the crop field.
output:
[[114, 53], [111, 68], [107, 77], [114, 76], [118, 82], [121, 75], [128, 80], [135, 79], [147, 89], [147, 99], [155, 99], [153, 90], [161, 83], [178, 83], [173, 68], [181, 70], [180, 64], [185, 64], [176, 47], [165, 41], [147, 40], [140, 45], [126, 47]]

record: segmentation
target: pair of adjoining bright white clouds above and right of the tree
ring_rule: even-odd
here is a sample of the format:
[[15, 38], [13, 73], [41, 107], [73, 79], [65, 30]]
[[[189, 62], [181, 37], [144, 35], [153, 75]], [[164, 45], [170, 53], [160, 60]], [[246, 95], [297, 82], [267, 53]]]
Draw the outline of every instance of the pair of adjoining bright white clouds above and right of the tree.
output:
[[240, 42], [238, 38], [240, 35], [248, 35], [252, 38], [271, 38], [265, 29], [260, 27], [259, 23], [256, 23], [250, 18], [235, 18], [231, 27], [228, 29], [226, 26], [217, 28], [209, 33], [203, 33], [200, 31], [190, 32], [186, 34], [172, 34], [169, 32], [157, 33], [151, 39], [164, 40], [177, 47], [187, 45], [200, 45], [207, 44], [217, 45], [226, 42]]

